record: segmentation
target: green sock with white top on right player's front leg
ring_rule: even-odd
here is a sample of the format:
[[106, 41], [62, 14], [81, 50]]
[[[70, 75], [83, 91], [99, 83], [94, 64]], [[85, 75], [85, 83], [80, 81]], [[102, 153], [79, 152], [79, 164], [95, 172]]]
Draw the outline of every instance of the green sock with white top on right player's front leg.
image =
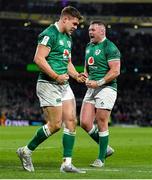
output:
[[103, 163], [104, 163], [106, 152], [107, 152], [108, 137], [109, 137], [108, 130], [104, 131], [104, 132], [99, 132], [99, 156], [98, 156], [98, 159], [100, 159]]

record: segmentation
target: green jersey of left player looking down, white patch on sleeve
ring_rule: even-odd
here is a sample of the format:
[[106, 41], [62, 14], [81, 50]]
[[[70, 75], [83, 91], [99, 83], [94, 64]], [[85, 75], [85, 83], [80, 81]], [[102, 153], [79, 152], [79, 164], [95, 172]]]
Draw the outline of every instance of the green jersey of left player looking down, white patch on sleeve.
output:
[[[72, 39], [66, 33], [58, 30], [57, 24], [52, 24], [38, 36], [38, 44], [51, 49], [46, 57], [48, 64], [59, 75], [67, 73], [68, 62], [71, 60]], [[40, 72], [38, 81], [55, 81], [44, 72]]]

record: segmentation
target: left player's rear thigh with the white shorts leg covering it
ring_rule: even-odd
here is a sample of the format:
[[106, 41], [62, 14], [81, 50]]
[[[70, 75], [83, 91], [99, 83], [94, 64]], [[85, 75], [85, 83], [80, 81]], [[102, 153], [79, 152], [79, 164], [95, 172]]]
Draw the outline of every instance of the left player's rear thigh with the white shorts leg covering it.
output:
[[36, 90], [48, 127], [58, 129], [62, 121], [62, 87], [48, 82], [38, 82]]

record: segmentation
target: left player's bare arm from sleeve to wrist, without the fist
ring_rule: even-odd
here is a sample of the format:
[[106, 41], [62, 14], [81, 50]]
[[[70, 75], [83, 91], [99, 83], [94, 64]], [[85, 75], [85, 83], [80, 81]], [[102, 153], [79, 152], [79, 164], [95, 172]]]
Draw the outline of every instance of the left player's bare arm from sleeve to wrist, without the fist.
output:
[[50, 76], [53, 79], [57, 79], [58, 74], [52, 70], [52, 68], [50, 67], [50, 65], [46, 61], [46, 57], [48, 56], [49, 52], [50, 52], [50, 48], [39, 44], [37, 46], [36, 53], [34, 56], [34, 62], [48, 76]]

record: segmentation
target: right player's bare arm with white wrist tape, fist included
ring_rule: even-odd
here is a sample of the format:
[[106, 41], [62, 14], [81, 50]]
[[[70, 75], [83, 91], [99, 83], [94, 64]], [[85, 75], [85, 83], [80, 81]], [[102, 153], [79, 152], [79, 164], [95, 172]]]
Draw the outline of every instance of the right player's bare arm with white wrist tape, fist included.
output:
[[86, 86], [89, 88], [95, 89], [117, 78], [120, 74], [120, 60], [116, 59], [116, 60], [110, 61], [108, 65], [109, 65], [110, 70], [107, 72], [104, 78], [98, 81], [89, 80], [86, 82]]

